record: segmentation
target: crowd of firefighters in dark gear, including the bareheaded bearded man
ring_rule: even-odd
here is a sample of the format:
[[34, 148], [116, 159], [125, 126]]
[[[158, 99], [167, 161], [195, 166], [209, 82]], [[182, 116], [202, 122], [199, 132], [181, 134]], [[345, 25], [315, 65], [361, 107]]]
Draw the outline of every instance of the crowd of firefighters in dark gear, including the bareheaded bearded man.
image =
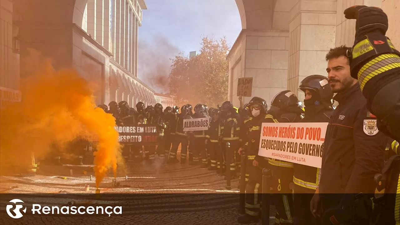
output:
[[[240, 155], [246, 154], [245, 214], [238, 218], [239, 223], [260, 219], [262, 169], [268, 168], [272, 171], [275, 224], [395, 224], [399, 222], [400, 198], [389, 193], [400, 194], [399, 143], [378, 131], [357, 80], [350, 76], [348, 49], [341, 46], [327, 54], [328, 77], [311, 75], [302, 80], [299, 90], [304, 92], [305, 107], [290, 90], [276, 94], [270, 106], [260, 97], [247, 104], [239, 97], [239, 108], [230, 101], [216, 108], [197, 104], [194, 113], [190, 104], [163, 110], [159, 103], [145, 108], [139, 102], [134, 109], [122, 101], [110, 102], [110, 109], [99, 107], [114, 115], [119, 126], [146, 123], [158, 127], [163, 136], [159, 145], [144, 146], [144, 159], [150, 163], [158, 154], [165, 163], [188, 160], [189, 165], [216, 173], [227, 166], [234, 179], [240, 171]], [[334, 100], [338, 102], [335, 109]], [[184, 131], [184, 120], [196, 118], [209, 119], [208, 130]], [[262, 123], [297, 122], [329, 123], [321, 169], [258, 155]], [[231, 154], [225, 154], [228, 142]], [[123, 147], [123, 155], [131, 153], [136, 161], [142, 159], [141, 151], [136, 145]], [[383, 193], [385, 197], [380, 198]], [[370, 205], [375, 205], [374, 211]], [[372, 220], [375, 223], [370, 223]]]

